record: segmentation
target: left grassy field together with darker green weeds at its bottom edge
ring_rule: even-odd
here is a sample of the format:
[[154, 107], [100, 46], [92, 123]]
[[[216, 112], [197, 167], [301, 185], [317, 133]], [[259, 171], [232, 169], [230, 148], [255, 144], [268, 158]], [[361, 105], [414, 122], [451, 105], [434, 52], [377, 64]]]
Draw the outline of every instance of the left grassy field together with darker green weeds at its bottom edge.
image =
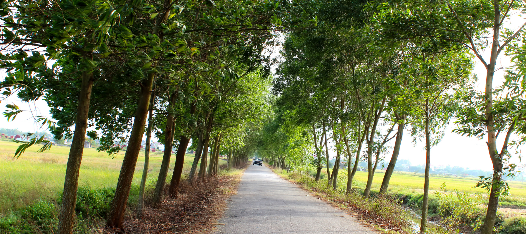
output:
[[[44, 210], [44, 213], [57, 214], [57, 203], [59, 203], [60, 192], [64, 183], [69, 147], [53, 146], [51, 150], [44, 153], [35, 153], [38, 148], [32, 147], [20, 158], [14, 160], [13, 155], [16, 148], [17, 144], [14, 142], [0, 141], [0, 171], [2, 172], [0, 173], [0, 233], [3, 232], [2, 229], [7, 230], [12, 225], [20, 226], [21, 219], [31, 219], [27, 213], [33, 211], [38, 213]], [[144, 153], [144, 151], [142, 152]], [[153, 190], [155, 186], [162, 157], [162, 152], [150, 152], [147, 190]], [[89, 200], [94, 197], [98, 199], [94, 207], [85, 210], [85, 217], [104, 216], [109, 208], [108, 202], [113, 197], [112, 194], [123, 158], [124, 152], [120, 152], [116, 158], [112, 158], [107, 153], [97, 152], [94, 148], [84, 149], [79, 175], [79, 200]], [[186, 155], [183, 173], [188, 173], [193, 160], [193, 155]], [[220, 164], [226, 163], [224, 160], [219, 161]], [[171, 178], [174, 163], [175, 157], [172, 157], [168, 180]], [[144, 154], [140, 154], [135, 169], [134, 184], [130, 192], [129, 204], [132, 207], [138, 196], [137, 184], [140, 182], [143, 165]], [[93, 201], [80, 202], [89, 203]], [[77, 211], [83, 212], [78, 207]], [[53, 217], [52, 220], [55, 218]], [[23, 221], [23, 223], [25, 226], [12, 229], [19, 230], [13, 233], [25, 233], [22, 231], [24, 229], [35, 231], [35, 226], [39, 226], [38, 222], [26, 223]], [[51, 227], [50, 230], [52, 229]]]

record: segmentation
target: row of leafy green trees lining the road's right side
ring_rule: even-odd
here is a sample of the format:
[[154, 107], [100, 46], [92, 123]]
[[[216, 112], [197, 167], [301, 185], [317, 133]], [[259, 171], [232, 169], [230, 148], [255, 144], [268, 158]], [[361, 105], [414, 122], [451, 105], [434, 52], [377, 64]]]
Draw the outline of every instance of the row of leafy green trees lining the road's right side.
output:
[[[459, 134], [487, 138], [493, 174], [477, 186], [490, 192], [483, 234], [493, 231], [503, 176], [516, 167], [509, 145], [524, 142], [522, 30], [503, 28], [524, 9], [517, 1], [313, 1], [317, 27], [286, 35], [284, 61], [274, 79], [276, 118], [258, 150], [267, 160], [323, 167], [337, 189], [340, 161], [348, 162], [347, 192], [360, 161], [372, 179], [394, 139], [380, 193], [386, 193], [404, 130], [426, 144], [421, 233], [426, 231], [431, 147], [454, 117]], [[482, 56], [488, 47], [489, 58]], [[493, 82], [497, 58], [517, 65], [504, 83]], [[487, 69], [485, 90], [474, 89], [474, 61]], [[494, 84], [495, 83], [495, 84]], [[497, 138], [503, 139], [497, 148]], [[518, 138], [513, 138], [518, 136]], [[329, 145], [336, 162], [329, 168]], [[300, 152], [300, 153], [298, 153]], [[300, 163], [301, 164], [301, 163]]]

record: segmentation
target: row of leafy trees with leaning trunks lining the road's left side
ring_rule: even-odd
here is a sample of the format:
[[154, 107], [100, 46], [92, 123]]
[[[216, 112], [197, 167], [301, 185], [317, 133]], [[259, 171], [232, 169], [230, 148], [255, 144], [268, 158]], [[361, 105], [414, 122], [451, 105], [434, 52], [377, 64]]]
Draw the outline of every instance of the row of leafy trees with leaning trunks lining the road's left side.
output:
[[[271, 31], [312, 24], [295, 4], [279, 1], [44, 0], [0, 3], [3, 95], [44, 99], [52, 119], [37, 116], [55, 139], [73, 139], [60, 203], [58, 232], [72, 233], [86, 135], [115, 155], [126, 144], [109, 227], [123, 219], [143, 135], [147, 149], [137, 214], [143, 209], [151, 134], [165, 152], [154, 206], [165, 198], [171, 150], [177, 147], [168, 197], [177, 198], [185, 152], [197, 143], [190, 182], [218, 171], [220, 151], [229, 166], [255, 148], [250, 131], [268, 115]], [[8, 104], [4, 114], [22, 112]], [[88, 131], [88, 129], [90, 131]], [[33, 136], [19, 142], [19, 157]], [[208, 148], [211, 147], [207, 169]], [[197, 165], [201, 160], [200, 168]], [[197, 178], [196, 178], [197, 176]]]

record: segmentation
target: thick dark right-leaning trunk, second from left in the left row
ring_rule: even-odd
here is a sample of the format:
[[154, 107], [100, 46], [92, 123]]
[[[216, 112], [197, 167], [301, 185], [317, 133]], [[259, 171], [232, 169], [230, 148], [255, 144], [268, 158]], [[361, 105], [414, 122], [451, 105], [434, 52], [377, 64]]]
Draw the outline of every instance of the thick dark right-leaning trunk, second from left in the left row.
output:
[[143, 140], [144, 126], [148, 114], [148, 105], [150, 104], [151, 86], [153, 84], [155, 73], [148, 74], [148, 79], [144, 80], [140, 87], [140, 97], [137, 105], [137, 112], [133, 126], [131, 127], [128, 147], [124, 154], [123, 165], [120, 167], [115, 197], [113, 198], [112, 208], [109, 212], [107, 225], [109, 227], [123, 228], [124, 214], [128, 195], [131, 188], [131, 181], [135, 172], [135, 165], [139, 157], [140, 145]]

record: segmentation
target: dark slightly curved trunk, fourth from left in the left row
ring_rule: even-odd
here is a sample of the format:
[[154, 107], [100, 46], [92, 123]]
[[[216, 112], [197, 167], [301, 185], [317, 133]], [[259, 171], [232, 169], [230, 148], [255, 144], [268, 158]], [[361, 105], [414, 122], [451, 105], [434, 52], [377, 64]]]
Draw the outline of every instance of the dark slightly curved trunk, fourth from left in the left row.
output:
[[[169, 103], [168, 109], [170, 109], [170, 107], [173, 106], [173, 104], [173, 102]], [[159, 168], [159, 176], [157, 177], [157, 183], [155, 185], [155, 192], [153, 198], [153, 204], [156, 207], [159, 207], [161, 202], [163, 201], [166, 177], [168, 176], [168, 168], [170, 167], [171, 150], [174, 144], [174, 123], [175, 119], [173, 112], [168, 110], [168, 114], [166, 115], [166, 126], [164, 131], [165, 150], [163, 153], [163, 161], [161, 161], [161, 167]]]

